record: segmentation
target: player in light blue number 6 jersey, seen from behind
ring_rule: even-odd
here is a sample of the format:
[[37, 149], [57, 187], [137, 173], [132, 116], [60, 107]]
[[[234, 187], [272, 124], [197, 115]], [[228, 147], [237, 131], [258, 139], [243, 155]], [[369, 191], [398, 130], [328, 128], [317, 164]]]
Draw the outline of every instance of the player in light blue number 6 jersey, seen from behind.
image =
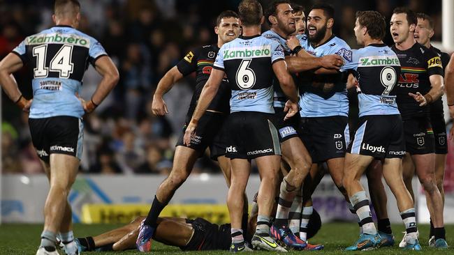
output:
[[228, 118], [228, 147], [226, 156], [232, 165], [231, 185], [227, 205], [232, 224], [230, 251], [247, 249], [241, 230], [243, 193], [250, 174], [250, 162], [255, 159], [261, 174], [258, 191], [258, 217], [253, 247], [271, 251], [286, 251], [270, 238], [270, 216], [280, 169], [281, 149], [277, 129], [272, 123], [273, 73], [284, 94], [290, 98], [285, 119], [298, 111], [298, 93], [286, 70], [284, 51], [279, 43], [261, 34], [262, 6], [256, 0], [245, 0], [238, 7], [243, 35], [221, 49], [213, 71], [203, 88], [198, 106], [189, 123], [184, 141], [188, 144], [195, 135], [198, 120], [227, 75], [232, 97]]

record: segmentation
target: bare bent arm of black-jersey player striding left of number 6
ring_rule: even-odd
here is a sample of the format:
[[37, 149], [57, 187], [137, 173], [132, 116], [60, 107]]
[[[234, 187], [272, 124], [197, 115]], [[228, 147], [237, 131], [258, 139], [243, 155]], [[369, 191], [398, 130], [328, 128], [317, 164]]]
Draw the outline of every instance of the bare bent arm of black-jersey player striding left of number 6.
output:
[[168, 109], [166, 102], [163, 100], [163, 95], [165, 95], [170, 88], [173, 87], [173, 84], [182, 79], [184, 75], [178, 70], [175, 65], [172, 69], [166, 72], [161, 80], [158, 83], [156, 91], [154, 91], [153, 102], [152, 102], [152, 112], [156, 116], [164, 116], [168, 114]]

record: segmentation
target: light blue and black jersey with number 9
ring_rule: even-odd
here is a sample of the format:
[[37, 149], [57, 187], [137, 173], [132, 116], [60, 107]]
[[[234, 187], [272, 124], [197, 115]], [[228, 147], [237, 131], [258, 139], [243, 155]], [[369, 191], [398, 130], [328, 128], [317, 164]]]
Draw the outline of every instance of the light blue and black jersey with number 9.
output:
[[400, 114], [395, 90], [400, 61], [390, 47], [372, 44], [353, 51], [353, 61], [344, 68], [356, 70], [360, 117]]

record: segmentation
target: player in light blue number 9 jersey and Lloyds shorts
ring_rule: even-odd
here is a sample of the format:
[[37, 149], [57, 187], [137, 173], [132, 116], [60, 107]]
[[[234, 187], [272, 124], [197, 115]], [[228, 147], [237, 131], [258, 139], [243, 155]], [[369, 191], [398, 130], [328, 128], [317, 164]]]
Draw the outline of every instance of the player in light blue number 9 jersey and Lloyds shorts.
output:
[[404, 185], [401, 171], [405, 141], [395, 89], [400, 61], [393, 50], [383, 44], [386, 22], [380, 13], [358, 12], [354, 31], [358, 44], [364, 47], [353, 52], [353, 59], [345, 68], [352, 68], [358, 79], [360, 118], [358, 130], [346, 153], [342, 184], [360, 219], [363, 233], [346, 250], [373, 249], [381, 245], [381, 237], [372, 221], [369, 199], [360, 184], [361, 176], [374, 159], [383, 164], [383, 177], [395, 195], [407, 229], [405, 248], [420, 250], [413, 200]]

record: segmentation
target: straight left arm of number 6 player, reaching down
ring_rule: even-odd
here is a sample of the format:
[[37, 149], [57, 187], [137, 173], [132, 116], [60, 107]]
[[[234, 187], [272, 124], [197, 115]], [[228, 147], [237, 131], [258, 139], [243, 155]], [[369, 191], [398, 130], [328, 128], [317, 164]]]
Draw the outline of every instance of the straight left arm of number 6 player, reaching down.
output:
[[213, 68], [210, 74], [210, 78], [208, 78], [205, 86], [203, 86], [202, 92], [200, 93], [200, 98], [198, 98], [196, 110], [194, 110], [191, 121], [189, 122], [189, 125], [186, 127], [186, 131], [184, 132], [183, 141], [187, 146], [191, 144], [191, 137], [196, 134], [198, 121], [202, 117], [203, 113], [205, 113], [208, 106], [210, 105], [210, 102], [213, 100], [214, 96], [219, 90], [219, 85], [221, 84], [224, 75], [224, 70]]

